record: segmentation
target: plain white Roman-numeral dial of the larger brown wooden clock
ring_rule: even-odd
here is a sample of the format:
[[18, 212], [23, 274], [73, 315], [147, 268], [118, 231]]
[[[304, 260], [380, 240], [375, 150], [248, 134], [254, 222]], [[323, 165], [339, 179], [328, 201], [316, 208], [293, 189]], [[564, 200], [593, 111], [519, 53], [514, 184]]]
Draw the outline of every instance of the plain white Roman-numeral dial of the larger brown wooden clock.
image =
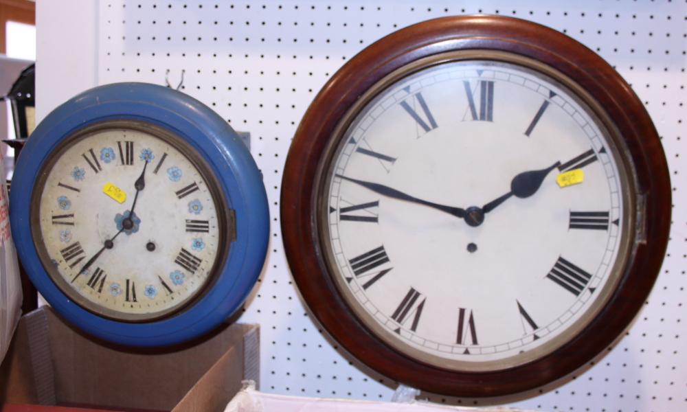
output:
[[526, 363], [615, 286], [631, 225], [618, 148], [543, 73], [420, 66], [363, 96], [333, 148], [319, 205], [328, 265], [402, 352], [449, 369]]

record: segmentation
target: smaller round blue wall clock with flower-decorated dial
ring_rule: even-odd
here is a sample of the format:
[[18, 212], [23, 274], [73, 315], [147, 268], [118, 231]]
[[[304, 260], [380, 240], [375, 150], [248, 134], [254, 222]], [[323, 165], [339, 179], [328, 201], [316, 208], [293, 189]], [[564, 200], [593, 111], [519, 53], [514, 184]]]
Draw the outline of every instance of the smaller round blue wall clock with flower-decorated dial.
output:
[[32, 282], [108, 341], [170, 345], [214, 328], [262, 269], [262, 176], [210, 108], [142, 83], [96, 87], [27, 140], [10, 196]]

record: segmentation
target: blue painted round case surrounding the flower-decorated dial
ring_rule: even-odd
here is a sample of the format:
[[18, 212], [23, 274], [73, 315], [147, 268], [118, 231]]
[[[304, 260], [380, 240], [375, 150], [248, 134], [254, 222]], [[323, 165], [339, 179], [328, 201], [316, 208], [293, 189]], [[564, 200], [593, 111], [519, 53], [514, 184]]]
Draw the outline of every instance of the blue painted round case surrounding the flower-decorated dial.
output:
[[[208, 293], [189, 308], [158, 321], [128, 323], [99, 317], [68, 299], [47, 275], [30, 229], [30, 198], [41, 165], [65, 137], [106, 119], [136, 119], [162, 126], [188, 142], [220, 181], [236, 216], [236, 240]], [[262, 174], [245, 144], [219, 115], [198, 100], [146, 83], [107, 84], [58, 106], [36, 126], [16, 163], [10, 225], [26, 272], [47, 302], [69, 321], [107, 341], [164, 346], [188, 341], [227, 319], [243, 304], [262, 270], [269, 210]]]

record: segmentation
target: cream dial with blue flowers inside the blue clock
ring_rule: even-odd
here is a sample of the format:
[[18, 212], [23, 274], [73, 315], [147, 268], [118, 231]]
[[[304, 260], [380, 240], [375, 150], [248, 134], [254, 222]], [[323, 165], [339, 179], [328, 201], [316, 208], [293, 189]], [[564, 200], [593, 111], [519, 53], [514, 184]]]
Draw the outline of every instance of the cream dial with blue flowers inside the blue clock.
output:
[[150, 124], [105, 124], [67, 139], [45, 165], [36, 249], [77, 304], [112, 319], [149, 321], [180, 310], [212, 283], [225, 224], [214, 183], [187, 146]]

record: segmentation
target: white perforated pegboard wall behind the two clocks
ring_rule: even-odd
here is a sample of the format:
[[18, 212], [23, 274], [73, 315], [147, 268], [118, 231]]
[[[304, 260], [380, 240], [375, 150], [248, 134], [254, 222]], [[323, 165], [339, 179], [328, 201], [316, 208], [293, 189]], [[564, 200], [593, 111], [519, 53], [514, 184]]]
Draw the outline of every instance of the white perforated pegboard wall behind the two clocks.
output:
[[[76, 6], [60, 7], [80, 13]], [[183, 72], [181, 91], [213, 108], [236, 130], [251, 133], [251, 152], [269, 197], [272, 234], [264, 271], [240, 321], [261, 326], [260, 389], [289, 395], [390, 400], [397, 386], [343, 354], [320, 331], [291, 282], [284, 256], [279, 216], [284, 160], [304, 111], [325, 82], [382, 36], [453, 14], [532, 20], [596, 51], [632, 85], [662, 136], [673, 178], [671, 241], [662, 273], [627, 336], [583, 374], [510, 404], [546, 411], [687, 410], [685, 0], [100, 0], [95, 10], [97, 84], [165, 84], [169, 71], [176, 87]], [[60, 30], [59, 22], [52, 24]], [[51, 93], [38, 85], [37, 95]], [[486, 404], [430, 393], [420, 398]]]

